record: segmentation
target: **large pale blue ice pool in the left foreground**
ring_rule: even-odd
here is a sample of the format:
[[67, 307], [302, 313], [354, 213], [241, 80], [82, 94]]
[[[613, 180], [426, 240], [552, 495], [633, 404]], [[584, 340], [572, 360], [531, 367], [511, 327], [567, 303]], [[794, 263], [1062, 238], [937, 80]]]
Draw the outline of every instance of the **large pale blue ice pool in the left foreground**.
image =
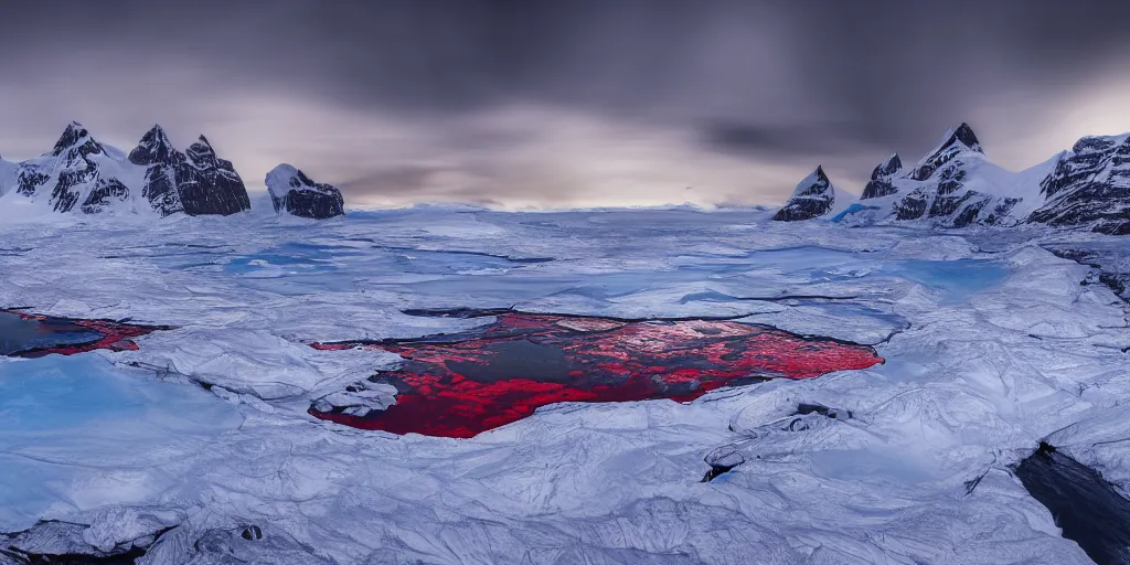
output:
[[172, 487], [163, 466], [242, 421], [207, 391], [120, 373], [96, 354], [0, 360], [0, 531], [81, 506], [99, 489], [144, 502]]

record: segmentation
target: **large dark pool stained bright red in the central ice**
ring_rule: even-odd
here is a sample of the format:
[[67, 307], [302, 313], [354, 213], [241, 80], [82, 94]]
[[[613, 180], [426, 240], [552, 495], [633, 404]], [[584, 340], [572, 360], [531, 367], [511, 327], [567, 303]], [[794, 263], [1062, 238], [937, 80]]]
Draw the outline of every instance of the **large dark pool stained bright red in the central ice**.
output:
[[365, 416], [310, 409], [362, 429], [472, 437], [554, 402], [688, 402], [756, 379], [809, 379], [883, 363], [868, 346], [728, 321], [625, 322], [510, 313], [459, 336], [313, 344], [400, 355], [400, 370], [373, 375], [397, 401]]

